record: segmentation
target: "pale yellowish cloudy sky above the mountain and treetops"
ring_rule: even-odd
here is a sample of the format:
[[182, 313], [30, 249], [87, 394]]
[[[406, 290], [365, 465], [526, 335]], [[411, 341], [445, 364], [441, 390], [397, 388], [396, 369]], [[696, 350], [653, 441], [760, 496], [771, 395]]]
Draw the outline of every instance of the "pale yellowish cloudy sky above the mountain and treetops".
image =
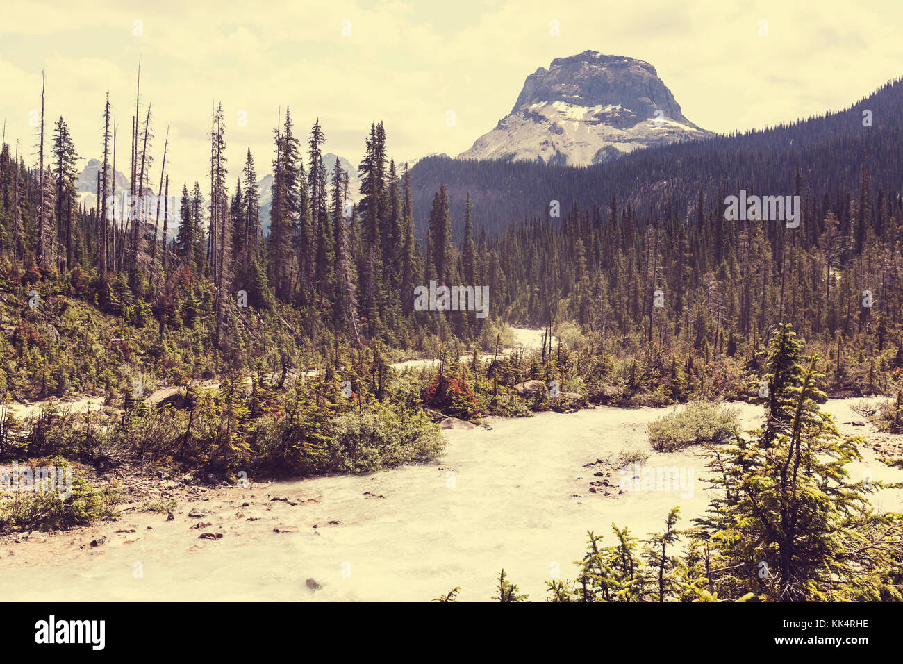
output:
[[[109, 90], [120, 123], [116, 165], [127, 164], [140, 54], [154, 171], [169, 124], [168, 170], [178, 191], [182, 181], [203, 185], [209, 173], [214, 100], [226, 112], [230, 182], [248, 146], [258, 174], [268, 172], [280, 106], [292, 108], [304, 136], [320, 117], [326, 150], [356, 165], [379, 119], [396, 161], [453, 156], [507, 115], [528, 74], [591, 49], [651, 62], [686, 117], [723, 133], [843, 108], [903, 75], [903, 5], [860, 4], [3, 0], [0, 119], [7, 142], [19, 138], [34, 151], [29, 118], [40, 108], [43, 69], [48, 132], [62, 115], [79, 153], [97, 157]], [[759, 36], [761, 21], [768, 36]], [[450, 109], [455, 126], [446, 124]], [[239, 126], [239, 111], [247, 126]]]

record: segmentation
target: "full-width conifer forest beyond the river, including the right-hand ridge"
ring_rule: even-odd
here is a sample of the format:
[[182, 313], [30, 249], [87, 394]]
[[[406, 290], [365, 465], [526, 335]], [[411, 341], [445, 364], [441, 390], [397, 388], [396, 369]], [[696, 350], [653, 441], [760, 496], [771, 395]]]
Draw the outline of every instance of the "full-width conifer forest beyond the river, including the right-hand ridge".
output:
[[[332, 173], [323, 165], [319, 121], [303, 138], [286, 109], [274, 130], [266, 233], [250, 150], [229, 174], [221, 107], [209, 118], [207, 179], [176, 185], [166, 173], [168, 132], [153, 145], [150, 105], [136, 105], [123, 148], [107, 101], [99, 210], [76, 202], [81, 157], [64, 118], [52, 130], [47, 123], [52, 136], [37, 168], [20, 145], [0, 154], [6, 389], [12, 397], [62, 395], [66, 385], [109, 389], [105, 366], [116, 355], [97, 344], [123, 349], [154, 379], [179, 382], [224, 371], [284, 374], [338, 358], [340, 348], [379, 346], [390, 356], [456, 339], [492, 350], [499, 321], [552, 327], [573, 347], [629, 360], [631, 392], [656, 388], [667, 374], [681, 384], [675, 398], [728, 360], [731, 394], [747, 394], [764, 340], [786, 321], [830, 359], [833, 389], [886, 389], [903, 369], [901, 85], [842, 113], [611, 165], [427, 159], [414, 172], [439, 169], [444, 181], [419, 204], [423, 192], [414, 194], [414, 175], [388, 155], [382, 123], [365, 137], [352, 204], [340, 162]], [[124, 152], [133, 182], [126, 205], [107, 195]], [[464, 192], [456, 204], [468, 177], [479, 186], [470, 182], [474, 196]], [[727, 219], [724, 198], [739, 189], [799, 196], [798, 227]], [[560, 219], [550, 214], [550, 192]], [[498, 210], [513, 219], [524, 205], [533, 206], [529, 220], [487, 228]], [[426, 227], [415, 233], [423, 214]], [[488, 286], [489, 318], [416, 310], [414, 289], [431, 281]], [[112, 316], [79, 326], [91, 341], [80, 348], [95, 349], [89, 358], [70, 335], [57, 340], [60, 331], [46, 327], [64, 324], [44, 319], [66, 298]], [[86, 361], [92, 369], [79, 369]]]

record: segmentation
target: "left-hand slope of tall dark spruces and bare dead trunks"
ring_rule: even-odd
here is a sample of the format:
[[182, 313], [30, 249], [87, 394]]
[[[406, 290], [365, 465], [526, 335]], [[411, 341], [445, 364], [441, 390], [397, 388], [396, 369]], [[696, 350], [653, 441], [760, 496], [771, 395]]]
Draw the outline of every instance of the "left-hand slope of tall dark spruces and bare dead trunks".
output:
[[[5, 143], [0, 153], [5, 357], [15, 359], [6, 372], [24, 381], [9, 386], [13, 395], [61, 393], [56, 386], [65, 384], [92, 389], [108, 380], [101, 369], [77, 370], [84, 359], [74, 347], [51, 351], [45, 340], [22, 331], [38, 324], [35, 334], [43, 334], [45, 324], [65, 324], [59, 316], [43, 319], [64, 311], [66, 298], [113, 317], [97, 319], [105, 322], [102, 332], [88, 325], [79, 335], [121, 345], [136, 369], [176, 382], [261, 363], [272, 371], [298, 369], [337, 344], [435, 349], [452, 334], [486, 347], [496, 341], [492, 324], [475, 313], [446, 319], [414, 311], [414, 286], [436, 275], [463, 283], [463, 270], [467, 283], [484, 281], [486, 247], [479, 257], [472, 246], [459, 255], [441, 199], [429, 247], [416, 241], [408, 173], [387, 157], [381, 123], [366, 137], [354, 204], [340, 161], [326, 171], [319, 123], [309, 136], [298, 136], [286, 109], [275, 127], [272, 205], [264, 224], [250, 150], [237, 172], [228, 172], [221, 107], [210, 117], [210, 172], [203, 185], [200, 173], [199, 182], [170, 182], [168, 129], [162, 145], [154, 146], [150, 105], [136, 107], [125, 147], [112, 128], [108, 101], [102, 110], [98, 207], [79, 207], [75, 180], [82, 157], [63, 117], [52, 124], [47, 145], [40, 128], [36, 166], [25, 163], [18, 143]], [[80, 149], [95, 153], [93, 146]], [[113, 173], [124, 161], [130, 195], [113, 196]], [[52, 332], [54, 343], [59, 332]], [[60, 341], [71, 342], [65, 334]], [[107, 357], [97, 361], [106, 364]], [[54, 386], [38, 385], [33, 363], [56, 377]]]

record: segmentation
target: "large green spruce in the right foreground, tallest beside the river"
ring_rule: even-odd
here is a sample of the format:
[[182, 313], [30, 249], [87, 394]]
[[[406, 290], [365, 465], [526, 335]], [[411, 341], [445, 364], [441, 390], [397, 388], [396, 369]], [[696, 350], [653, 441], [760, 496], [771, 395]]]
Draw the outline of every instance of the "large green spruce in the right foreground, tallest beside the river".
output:
[[[894, 538], [893, 515], [870, 512], [870, 486], [849, 482], [858, 439], [841, 440], [817, 400], [817, 356], [801, 354], [789, 323], [771, 341], [775, 386], [768, 426], [752, 440], [712, 451], [721, 492], [695, 537], [721, 558], [721, 596], [752, 592], [784, 602], [880, 597]], [[871, 542], [873, 546], [864, 545]], [[899, 596], [898, 591], [890, 594]]]

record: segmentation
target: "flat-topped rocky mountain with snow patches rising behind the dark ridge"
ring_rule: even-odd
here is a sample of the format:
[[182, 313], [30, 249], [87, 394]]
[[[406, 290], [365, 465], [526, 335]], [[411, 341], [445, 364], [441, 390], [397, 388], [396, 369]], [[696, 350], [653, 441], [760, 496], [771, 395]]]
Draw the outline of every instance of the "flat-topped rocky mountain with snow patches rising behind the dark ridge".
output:
[[585, 166], [709, 136], [684, 117], [651, 64], [584, 51], [527, 76], [511, 112], [458, 158]]

